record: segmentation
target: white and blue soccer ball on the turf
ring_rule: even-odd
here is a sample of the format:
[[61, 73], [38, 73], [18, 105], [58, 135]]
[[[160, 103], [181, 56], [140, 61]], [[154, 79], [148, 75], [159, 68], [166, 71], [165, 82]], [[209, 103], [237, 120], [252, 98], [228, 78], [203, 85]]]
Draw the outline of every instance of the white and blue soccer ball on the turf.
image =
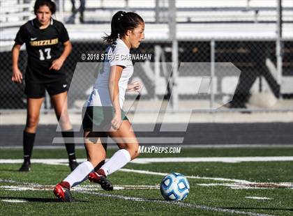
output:
[[182, 201], [189, 194], [188, 180], [181, 173], [170, 173], [160, 183], [160, 193], [165, 200]]

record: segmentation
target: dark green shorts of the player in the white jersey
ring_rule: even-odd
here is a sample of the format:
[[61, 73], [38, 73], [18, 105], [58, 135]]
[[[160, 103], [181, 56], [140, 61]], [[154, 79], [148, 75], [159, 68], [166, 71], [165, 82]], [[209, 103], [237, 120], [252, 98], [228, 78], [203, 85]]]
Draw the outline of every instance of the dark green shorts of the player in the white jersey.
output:
[[[111, 121], [114, 116], [113, 107], [83, 107], [82, 128], [84, 131], [107, 132], [111, 128]], [[121, 119], [128, 120], [125, 112], [121, 109]]]

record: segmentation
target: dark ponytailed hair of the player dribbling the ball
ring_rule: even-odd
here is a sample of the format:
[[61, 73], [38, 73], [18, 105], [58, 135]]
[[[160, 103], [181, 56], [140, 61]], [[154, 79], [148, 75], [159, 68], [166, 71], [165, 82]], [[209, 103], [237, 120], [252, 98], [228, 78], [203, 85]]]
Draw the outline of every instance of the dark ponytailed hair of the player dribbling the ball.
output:
[[137, 13], [126, 13], [125, 11], [119, 10], [112, 17], [110, 36], [103, 37], [103, 40], [107, 43], [113, 43], [117, 38], [125, 36], [126, 31], [135, 29], [143, 22], [144, 20]]

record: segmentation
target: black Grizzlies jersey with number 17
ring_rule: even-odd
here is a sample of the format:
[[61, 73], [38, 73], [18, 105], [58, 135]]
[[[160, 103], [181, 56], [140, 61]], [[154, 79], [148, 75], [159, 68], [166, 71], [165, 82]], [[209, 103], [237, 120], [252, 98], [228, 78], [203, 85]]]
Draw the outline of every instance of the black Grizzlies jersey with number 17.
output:
[[68, 32], [61, 22], [53, 19], [46, 29], [39, 29], [39, 26], [36, 19], [20, 26], [15, 43], [25, 43], [27, 47], [26, 82], [53, 82], [65, 76], [62, 68], [58, 71], [49, 68], [52, 61], [61, 56], [62, 44], [69, 40]]

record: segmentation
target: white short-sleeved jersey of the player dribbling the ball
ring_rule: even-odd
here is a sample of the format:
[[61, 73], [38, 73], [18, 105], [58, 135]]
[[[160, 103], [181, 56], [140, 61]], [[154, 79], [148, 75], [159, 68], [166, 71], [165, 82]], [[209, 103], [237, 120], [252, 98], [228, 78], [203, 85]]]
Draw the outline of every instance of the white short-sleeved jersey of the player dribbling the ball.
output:
[[113, 65], [123, 66], [121, 78], [119, 79], [119, 103], [123, 107], [125, 100], [126, 88], [130, 77], [133, 75], [133, 62], [129, 58], [130, 49], [121, 39], [117, 39], [116, 43], [107, 47], [107, 58], [104, 62], [103, 71], [98, 73], [95, 84], [93, 84], [93, 91], [87, 102], [86, 107], [103, 106], [112, 107], [112, 101], [109, 93], [109, 75], [110, 67]]

